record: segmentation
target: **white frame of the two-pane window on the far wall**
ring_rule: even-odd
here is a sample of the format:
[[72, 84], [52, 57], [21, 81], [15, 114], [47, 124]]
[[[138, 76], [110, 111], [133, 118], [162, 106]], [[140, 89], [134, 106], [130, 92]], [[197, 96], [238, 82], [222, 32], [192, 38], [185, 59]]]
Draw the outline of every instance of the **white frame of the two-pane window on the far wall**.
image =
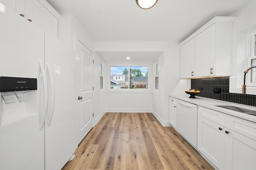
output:
[[107, 85], [107, 92], [138, 92], [138, 93], [149, 93], [152, 92], [152, 82], [150, 77], [152, 76], [152, 63], [150, 62], [133, 62], [133, 63], [123, 63], [123, 62], [113, 62], [108, 63], [108, 72], [107, 76], [109, 77], [109, 81], [111, 79], [111, 66], [126, 66], [128, 67], [128, 72], [130, 74], [130, 67], [131, 66], [147, 66], [148, 67], [148, 88], [147, 89], [132, 89], [130, 88], [130, 75], [128, 75], [128, 87], [129, 88], [110, 88], [110, 83], [108, 82]]

